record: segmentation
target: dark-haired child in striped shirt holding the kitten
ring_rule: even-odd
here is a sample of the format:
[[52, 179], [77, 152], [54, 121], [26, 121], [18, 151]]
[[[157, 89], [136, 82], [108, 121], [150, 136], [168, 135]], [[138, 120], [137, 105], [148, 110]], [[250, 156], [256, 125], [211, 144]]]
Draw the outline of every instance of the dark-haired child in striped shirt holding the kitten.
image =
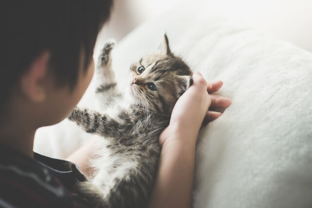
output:
[[[84, 94], [94, 73], [97, 34], [111, 6], [112, 0], [20, 0], [1, 6], [0, 207], [90, 207], [73, 189], [86, 180], [77, 166], [33, 152], [33, 142], [39, 127], [66, 118]], [[208, 111], [210, 106], [231, 104], [208, 94], [221, 86], [208, 85], [197, 73], [176, 103], [159, 136], [162, 151], [149, 207], [191, 207], [199, 128], [204, 117], [221, 115]], [[74, 154], [82, 160], [72, 157], [83, 170], [91, 147]]]

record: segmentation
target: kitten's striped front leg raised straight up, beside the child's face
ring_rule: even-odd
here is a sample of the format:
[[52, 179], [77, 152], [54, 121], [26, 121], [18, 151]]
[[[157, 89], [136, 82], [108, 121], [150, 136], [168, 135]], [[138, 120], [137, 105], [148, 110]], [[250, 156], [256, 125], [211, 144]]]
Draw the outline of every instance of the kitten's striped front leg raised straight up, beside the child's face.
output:
[[[105, 43], [101, 54], [98, 57], [96, 76], [97, 76], [97, 89], [96, 95], [100, 98], [100, 103], [103, 108], [108, 106], [110, 102], [120, 96], [117, 90], [117, 82], [115, 74], [112, 70], [112, 57], [111, 52], [115, 46], [115, 41], [111, 40]], [[103, 109], [102, 108], [102, 109]]]

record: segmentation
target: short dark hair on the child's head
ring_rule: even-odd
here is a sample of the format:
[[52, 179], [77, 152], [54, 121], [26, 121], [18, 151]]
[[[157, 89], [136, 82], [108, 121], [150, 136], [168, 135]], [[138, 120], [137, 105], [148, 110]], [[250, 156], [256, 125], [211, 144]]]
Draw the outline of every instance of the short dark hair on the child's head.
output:
[[4, 0], [0, 5], [0, 108], [30, 63], [45, 50], [58, 85], [73, 87], [109, 18], [113, 0]]

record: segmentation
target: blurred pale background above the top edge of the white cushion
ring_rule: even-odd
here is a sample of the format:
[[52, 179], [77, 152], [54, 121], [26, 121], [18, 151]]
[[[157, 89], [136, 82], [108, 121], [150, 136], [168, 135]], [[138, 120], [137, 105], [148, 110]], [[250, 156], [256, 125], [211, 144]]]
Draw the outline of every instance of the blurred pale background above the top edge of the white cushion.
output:
[[190, 1], [312, 52], [312, 0], [115, 0], [99, 37], [121, 40], [140, 23]]

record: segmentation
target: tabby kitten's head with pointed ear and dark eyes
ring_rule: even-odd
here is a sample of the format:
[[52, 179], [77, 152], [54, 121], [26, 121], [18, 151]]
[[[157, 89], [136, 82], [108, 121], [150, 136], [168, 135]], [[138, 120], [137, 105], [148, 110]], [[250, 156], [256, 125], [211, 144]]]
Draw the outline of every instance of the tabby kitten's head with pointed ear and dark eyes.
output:
[[156, 53], [130, 67], [130, 94], [142, 107], [170, 115], [176, 100], [192, 85], [192, 74], [189, 66], [171, 52], [165, 34]]

